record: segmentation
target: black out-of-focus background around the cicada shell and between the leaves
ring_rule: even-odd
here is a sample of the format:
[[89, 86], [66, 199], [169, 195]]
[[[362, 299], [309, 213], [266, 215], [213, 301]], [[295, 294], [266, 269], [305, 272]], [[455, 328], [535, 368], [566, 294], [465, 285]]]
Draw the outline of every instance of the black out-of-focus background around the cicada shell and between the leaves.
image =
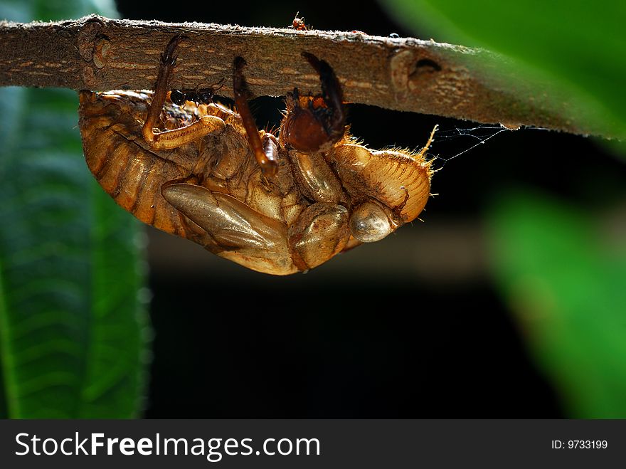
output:
[[[284, 27], [299, 11], [318, 29], [416, 36], [368, 1], [294, 5], [118, 1], [129, 19]], [[259, 98], [254, 109], [260, 127], [275, 125], [282, 100]], [[421, 147], [438, 123], [432, 154], [439, 167], [477, 142], [453, 138], [472, 122], [364, 105], [349, 107], [349, 123], [373, 148]], [[287, 278], [150, 228], [154, 357], [146, 416], [563, 416], [492, 285], [484, 211], [510, 186], [601, 204], [588, 189], [615, 172], [623, 166], [589, 139], [502, 132], [435, 174], [439, 195], [428, 202], [425, 223]]]

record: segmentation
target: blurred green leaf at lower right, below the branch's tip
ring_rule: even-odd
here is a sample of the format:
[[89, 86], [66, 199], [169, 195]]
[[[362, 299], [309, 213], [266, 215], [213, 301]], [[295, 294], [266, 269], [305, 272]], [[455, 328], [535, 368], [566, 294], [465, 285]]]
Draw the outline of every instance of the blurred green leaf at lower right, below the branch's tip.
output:
[[489, 214], [494, 279], [578, 418], [626, 418], [626, 248], [606, 225], [528, 189]]

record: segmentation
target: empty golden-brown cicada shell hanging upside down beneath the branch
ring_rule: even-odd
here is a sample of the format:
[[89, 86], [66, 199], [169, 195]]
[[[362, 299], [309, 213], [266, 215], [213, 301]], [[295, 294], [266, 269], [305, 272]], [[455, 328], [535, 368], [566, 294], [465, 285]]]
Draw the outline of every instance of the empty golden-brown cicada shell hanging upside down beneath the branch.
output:
[[435, 130], [418, 153], [357, 143], [346, 132], [339, 80], [309, 53], [303, 56], [319, 73], [323, 95], [299, 98], [295, 90], [278, 137], [254, 126], [242, 58], [233, 63], [238, 112], [177, 94], [172, 102], [167, 85], [179, 41], [161, 58], [154, 93], [80, 93], [87, 165], [122, 208], [275, 275], [314, 268], [420, 214]]

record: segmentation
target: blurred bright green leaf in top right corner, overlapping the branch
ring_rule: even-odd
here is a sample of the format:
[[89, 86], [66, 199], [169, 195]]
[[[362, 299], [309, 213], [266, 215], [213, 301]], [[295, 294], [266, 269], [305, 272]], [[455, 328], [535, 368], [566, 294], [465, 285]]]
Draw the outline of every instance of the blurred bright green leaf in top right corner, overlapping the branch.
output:
[[[626, 2], [384, 0], [409, 28], [437, 41], [482, 46], [514, 59], [526, 79], [568, 90], [606, 134], [626, 137]], [[429, 36], [430, 37], [430, 36]]]

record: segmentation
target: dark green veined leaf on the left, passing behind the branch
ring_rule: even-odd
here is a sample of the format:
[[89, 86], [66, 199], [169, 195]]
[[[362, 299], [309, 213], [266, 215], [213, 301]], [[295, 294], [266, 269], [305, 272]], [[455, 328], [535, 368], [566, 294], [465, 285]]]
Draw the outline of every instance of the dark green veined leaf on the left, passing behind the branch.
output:
[[[6, 2], [0, 16], [68, 19], [100, 12], [94, 4]], [[4, 417], [128, 418], [140, 409], [143, 233], [87, 169], [77, 108], [70, 90], [0, 90]]]

